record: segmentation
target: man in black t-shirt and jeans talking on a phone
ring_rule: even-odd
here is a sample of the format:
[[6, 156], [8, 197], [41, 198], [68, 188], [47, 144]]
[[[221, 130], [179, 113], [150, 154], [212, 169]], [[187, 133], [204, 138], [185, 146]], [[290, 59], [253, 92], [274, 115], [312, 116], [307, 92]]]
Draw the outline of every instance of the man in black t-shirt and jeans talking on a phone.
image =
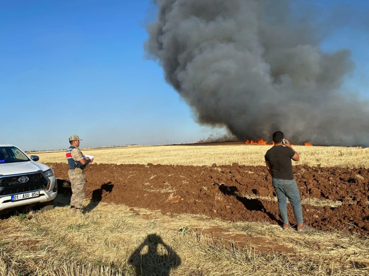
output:
[[272, 175], [272, 185], [278, 198], [279, 213], [283, 220], [283, 229], [291, 227], [287, 216], [287, 198], [289, 199], [295, 219], [297, 231], [313, 230], [304, 224], [300, 192], [293, 178], [292, 161], [299, 161], [299, 154], [292, 149], [288, 140], [283, 138], [283, 133], [273, 133], [274, 146], [265, 154], [266, 168]]

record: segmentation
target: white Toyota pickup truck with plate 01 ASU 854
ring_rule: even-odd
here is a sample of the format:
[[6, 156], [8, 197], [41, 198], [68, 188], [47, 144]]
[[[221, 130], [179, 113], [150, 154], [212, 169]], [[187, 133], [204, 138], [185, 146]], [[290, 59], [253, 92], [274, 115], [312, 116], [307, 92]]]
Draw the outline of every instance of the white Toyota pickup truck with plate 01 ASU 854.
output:
[[54, 171], [10, 144], [0, 144], [0, 212], [37, 204], [41, 211], [54, 207], [58, 190]]

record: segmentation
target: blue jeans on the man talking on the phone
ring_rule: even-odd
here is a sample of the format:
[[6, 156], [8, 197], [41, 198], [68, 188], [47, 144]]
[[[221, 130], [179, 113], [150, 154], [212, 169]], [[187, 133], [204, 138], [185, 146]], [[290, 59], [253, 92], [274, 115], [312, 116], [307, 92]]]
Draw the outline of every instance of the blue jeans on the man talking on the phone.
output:
[[303, 223], [301, 199], [296, 181], [272, 178], [272, 185], [277, 194], [279, 213], [283, 223], [288, 223], [287, 198], [293, 207], [297, 223]]

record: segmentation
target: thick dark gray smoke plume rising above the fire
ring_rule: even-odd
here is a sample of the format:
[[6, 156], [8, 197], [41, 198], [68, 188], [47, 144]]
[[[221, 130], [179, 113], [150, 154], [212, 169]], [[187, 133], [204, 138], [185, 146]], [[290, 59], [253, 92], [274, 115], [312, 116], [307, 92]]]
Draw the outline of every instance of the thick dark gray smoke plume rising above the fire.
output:
[[[287, 0], [158, 0], [145, 49], [198, 122], [240, 140], [367, 145], [365, 104], [340, 92], [349, 50], [324, 53]], [[317, 24], [315, 24], [317, 25]]]

